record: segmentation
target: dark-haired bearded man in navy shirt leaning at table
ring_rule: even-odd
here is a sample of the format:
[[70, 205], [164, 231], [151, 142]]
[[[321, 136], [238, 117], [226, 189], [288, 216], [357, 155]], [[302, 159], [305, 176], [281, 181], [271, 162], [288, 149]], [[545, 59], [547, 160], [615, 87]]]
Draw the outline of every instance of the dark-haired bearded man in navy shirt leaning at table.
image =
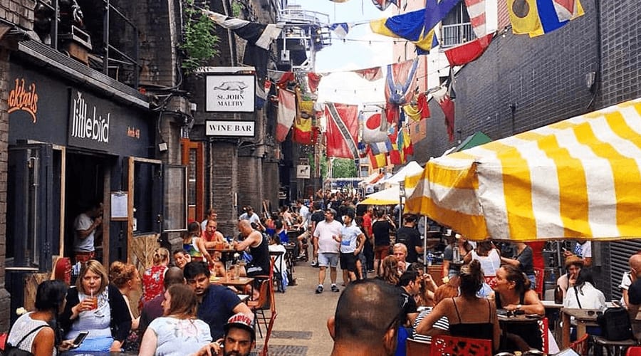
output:
[[209, 276], [211, 272], [207, 262], [192, 261], [184, 266], [184, 278], [196, 292], [199, 301], [197, 316], [209, 325], [212, 340], [217, 340], [224, 335], [223, 325], [231, 315], [243, 313], [253, 316], [254, 314], [231, 289], [209, 284]]

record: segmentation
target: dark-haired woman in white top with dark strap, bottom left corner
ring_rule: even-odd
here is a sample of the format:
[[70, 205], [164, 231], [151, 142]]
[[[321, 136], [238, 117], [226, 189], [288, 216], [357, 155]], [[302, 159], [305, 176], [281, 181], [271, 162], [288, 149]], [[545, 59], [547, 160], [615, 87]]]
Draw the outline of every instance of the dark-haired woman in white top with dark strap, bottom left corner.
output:
[[51, 356], [69, 350], [71, 340], [61, 340], [56, 320], [63, 311], [67, 286], [63, 281], [44, 281], [36, 291], [36, 311], [16, 320], [7, 342], [36, 356]]

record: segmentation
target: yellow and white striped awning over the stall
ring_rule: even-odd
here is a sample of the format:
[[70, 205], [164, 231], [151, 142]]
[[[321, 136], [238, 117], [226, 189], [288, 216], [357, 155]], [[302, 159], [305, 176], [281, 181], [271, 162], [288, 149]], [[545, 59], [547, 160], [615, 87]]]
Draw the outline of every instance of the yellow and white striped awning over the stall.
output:
[[405, 211], [469, 239], [639, 239], [641, 98], [431, 159]]

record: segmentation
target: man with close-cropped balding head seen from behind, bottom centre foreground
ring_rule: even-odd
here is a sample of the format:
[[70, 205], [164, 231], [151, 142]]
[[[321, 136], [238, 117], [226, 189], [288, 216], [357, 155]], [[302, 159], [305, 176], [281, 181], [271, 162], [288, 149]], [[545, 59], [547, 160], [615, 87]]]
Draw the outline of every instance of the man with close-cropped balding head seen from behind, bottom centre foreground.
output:
[[334, 340], [331, 355], [394, 355], [402, 318], [399, 288], [380, 279], [350, 283], [327, 320]]

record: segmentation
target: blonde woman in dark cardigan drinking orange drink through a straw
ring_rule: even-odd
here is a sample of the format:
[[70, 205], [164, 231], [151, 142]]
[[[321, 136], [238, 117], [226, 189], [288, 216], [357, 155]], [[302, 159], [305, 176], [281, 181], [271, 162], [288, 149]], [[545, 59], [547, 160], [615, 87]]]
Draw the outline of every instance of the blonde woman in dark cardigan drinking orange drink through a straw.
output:
[[67, 339], [89, 335], [74, 352], [120, 352], [131, 330], [131, 315], [120, 290], [109, 284], [100, 262], [89, 260], [69, 288], [61, 326]]

